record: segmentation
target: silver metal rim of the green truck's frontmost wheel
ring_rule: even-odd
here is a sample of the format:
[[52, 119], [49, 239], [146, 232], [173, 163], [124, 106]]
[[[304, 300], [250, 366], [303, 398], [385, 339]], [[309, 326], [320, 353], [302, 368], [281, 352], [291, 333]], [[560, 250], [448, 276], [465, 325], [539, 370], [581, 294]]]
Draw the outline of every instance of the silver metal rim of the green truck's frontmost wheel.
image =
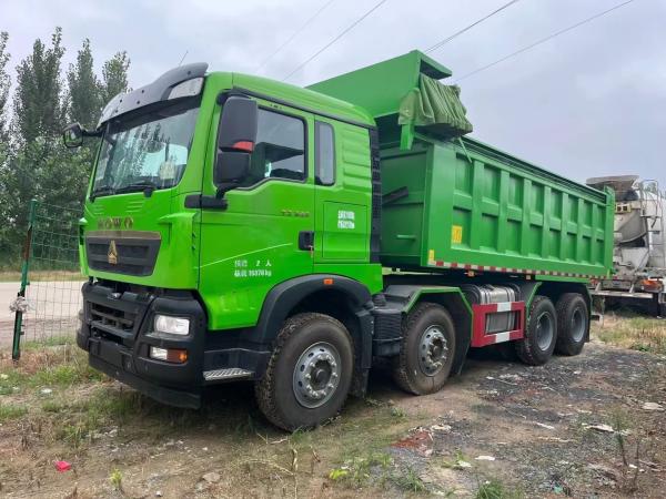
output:
[[326, 404], [340, 384], [340, 354], [330, 343], [315, 343], [301, 354], [294, 367], [293, 391], [309, 409]]

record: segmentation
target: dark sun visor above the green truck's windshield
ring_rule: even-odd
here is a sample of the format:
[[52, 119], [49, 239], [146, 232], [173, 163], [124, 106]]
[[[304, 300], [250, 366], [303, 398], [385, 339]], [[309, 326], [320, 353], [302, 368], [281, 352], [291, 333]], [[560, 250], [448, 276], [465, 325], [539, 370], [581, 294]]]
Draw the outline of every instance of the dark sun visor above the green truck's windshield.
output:
[[201, 78], [205, 74], [208, 63], [194, 62], [167, 71], [152, 83], [129, 93], [119, 93], [107, 104], [98, 123], [98, 128], [111, 118], [119, 116], [144, 105], [169, 99], [171, 90], [183, 81]]

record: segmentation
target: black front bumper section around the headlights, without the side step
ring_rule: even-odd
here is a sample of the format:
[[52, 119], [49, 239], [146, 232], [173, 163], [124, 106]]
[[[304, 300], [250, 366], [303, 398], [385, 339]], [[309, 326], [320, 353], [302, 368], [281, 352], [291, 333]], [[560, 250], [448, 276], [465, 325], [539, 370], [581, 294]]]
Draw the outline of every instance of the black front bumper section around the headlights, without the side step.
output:
[[[205, 314], [191, 293], [157, 295], [100, 283], [85, 283], [82, 293], [83, 317], [77, 344], [89, 353], [92, 367], [160, 401], [199, 407]], [[190, 333], [153, 332], [159, 313], [190, 318]], [[185, 349], [188, 359], [182, 364], [152, 359], [151, 346]]]

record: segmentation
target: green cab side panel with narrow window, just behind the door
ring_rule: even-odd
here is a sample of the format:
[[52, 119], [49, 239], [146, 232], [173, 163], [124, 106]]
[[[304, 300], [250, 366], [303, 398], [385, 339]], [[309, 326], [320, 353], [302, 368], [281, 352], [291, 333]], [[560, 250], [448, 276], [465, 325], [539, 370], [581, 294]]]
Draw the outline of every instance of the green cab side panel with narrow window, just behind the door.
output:
[[370, 157], [366, 129], [315, 118], [315, 264], [369, 262]]

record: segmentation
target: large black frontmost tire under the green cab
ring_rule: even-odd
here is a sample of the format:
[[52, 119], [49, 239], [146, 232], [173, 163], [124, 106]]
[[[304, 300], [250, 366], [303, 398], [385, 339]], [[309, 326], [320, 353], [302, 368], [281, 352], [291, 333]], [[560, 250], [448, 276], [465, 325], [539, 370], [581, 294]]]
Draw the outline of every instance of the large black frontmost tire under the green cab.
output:
[[[315, 359], [310, 359], [312, 355], [306, 356], [312, 348], [316, 350], [317, 345], [326, 345], [325, 350], [329, 354], [333, 352], [337, 354], [334, 364], [339, 366], [337, 370], [333, 370], [334, 368], [331, 367], [333, 363], [323, 360], [327, 366], [329, 376], [336, 375], [337, 385], [321, 400], [304, 395], [303, 385], [301, 385], [303, 390], [296, 389], [296, 377], [300, 376], [296, 373], [297, 364], [301, 364], [299, 369], [301, 373], [307, 366], [309, 370], [315, 371], [315, 378], [320, 374], [320, 370], [316, 370]], [[302, 358], [303, 356], [305, 357]], [[352, 338], [339, 320], [324, 314], [294, 315], [282, 326], [264, 377], [254, 385], [259, 408], [273, 425], [285, 430], [306, 429], [321, 425], [335, 417], [344, 405], [352, 383], [353, 367]], [[329, 384], [332, 378], [329, 377], [324, 383]], [[314, 387], [314, 381], [311, 381], [311, 385], [307, 386]], [[325, 389], [324, 386], [322, 391]], [[312, 406], [320, 403], [319, 406]]]

